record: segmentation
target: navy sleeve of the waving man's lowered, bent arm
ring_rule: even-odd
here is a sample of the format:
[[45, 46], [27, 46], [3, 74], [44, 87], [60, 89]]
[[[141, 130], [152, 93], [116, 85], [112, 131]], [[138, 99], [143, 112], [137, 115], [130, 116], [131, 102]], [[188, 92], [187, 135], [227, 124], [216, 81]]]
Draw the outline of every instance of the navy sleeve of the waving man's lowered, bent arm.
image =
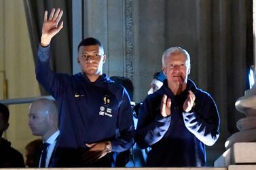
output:
[[122, 93], [122, 102], [118, 110], [117, 131], [115, 139], [111, 141], [113, 152], [123, 152], [134, 145], [134, 122], [130, 98], [126, 89]]

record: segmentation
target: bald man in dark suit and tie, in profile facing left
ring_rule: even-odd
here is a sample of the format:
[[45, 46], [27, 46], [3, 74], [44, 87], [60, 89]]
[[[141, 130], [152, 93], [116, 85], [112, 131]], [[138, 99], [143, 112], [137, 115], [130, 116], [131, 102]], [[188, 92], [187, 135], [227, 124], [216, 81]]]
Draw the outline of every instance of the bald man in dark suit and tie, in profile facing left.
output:
[[53, 167], [55, 146], [58, 142], [58, 108], [52, 100], [35, 100], [29, 106], [29, 127], [33, 135], [40, 135], [43, 150], [38, 167]]

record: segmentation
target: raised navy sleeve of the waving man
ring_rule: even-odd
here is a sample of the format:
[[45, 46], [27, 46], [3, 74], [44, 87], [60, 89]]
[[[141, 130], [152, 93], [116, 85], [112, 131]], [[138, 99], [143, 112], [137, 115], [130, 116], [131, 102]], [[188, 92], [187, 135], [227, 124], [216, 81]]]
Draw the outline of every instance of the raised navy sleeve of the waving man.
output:
[[50, 69], [49, 59], [50, 45], [48, 47], [42, 47], [39, 45], [37, 50], [35, 75], [37, 77], [37, 81], [56, 99], [63, 89], [61, 89], [58, 75]]

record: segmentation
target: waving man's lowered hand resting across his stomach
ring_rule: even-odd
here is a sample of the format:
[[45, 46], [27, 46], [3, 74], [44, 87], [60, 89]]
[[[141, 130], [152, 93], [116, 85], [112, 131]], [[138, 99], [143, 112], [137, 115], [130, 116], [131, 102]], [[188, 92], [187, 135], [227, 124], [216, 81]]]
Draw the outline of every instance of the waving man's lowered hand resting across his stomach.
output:
[[108, 152], [105, 150], [106, 142], [98, 142], [93, 144], [86, 144], [88, 151], [81, 156], [81, 160], [84, 164], [92, 164], [98, 161], [98, 159], [105, 156]]

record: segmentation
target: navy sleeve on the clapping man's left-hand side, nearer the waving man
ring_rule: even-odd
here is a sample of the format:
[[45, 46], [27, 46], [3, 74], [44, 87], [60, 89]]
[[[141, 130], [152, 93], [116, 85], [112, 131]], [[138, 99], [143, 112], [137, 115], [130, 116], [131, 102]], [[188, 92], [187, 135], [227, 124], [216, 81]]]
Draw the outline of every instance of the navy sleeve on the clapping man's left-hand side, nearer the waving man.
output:
[[139, 110], [135, 135], [138, 146], [147, 148], [160, 141], [170, 126], [170, 119], [171, 116], [163, 117], [160, 108], [153, 108], [146, 98]]

